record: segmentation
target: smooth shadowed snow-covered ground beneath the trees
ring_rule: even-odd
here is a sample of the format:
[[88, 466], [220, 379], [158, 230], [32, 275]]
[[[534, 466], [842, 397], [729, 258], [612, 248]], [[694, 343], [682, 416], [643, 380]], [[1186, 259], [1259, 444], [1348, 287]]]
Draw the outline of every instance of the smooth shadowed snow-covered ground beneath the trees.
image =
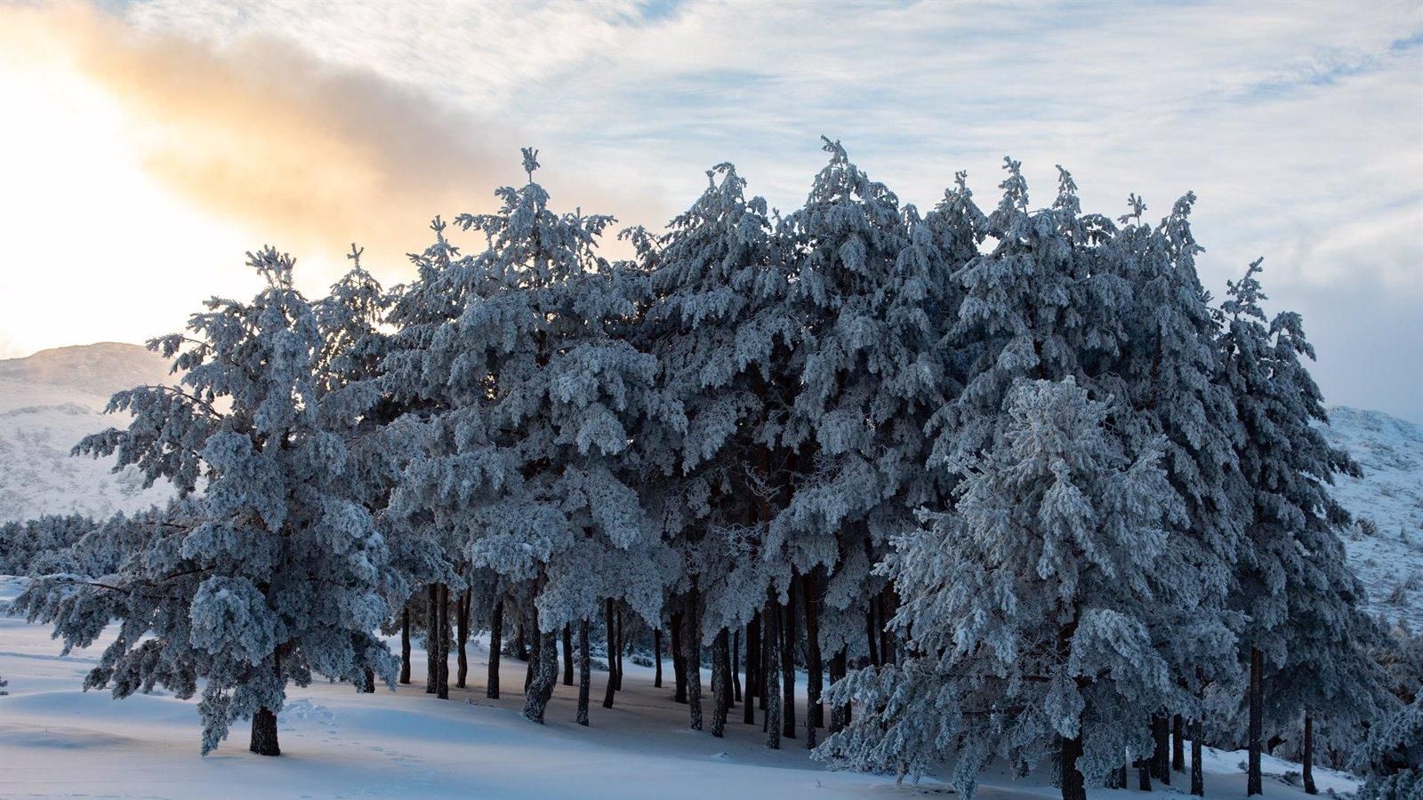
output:
[[[0, 579], [0, 604], [18, 581]], [[576, 688], [559, 685], [548, 725], [527, 722], [519, 709], [524, 663], [504, 660], [499, 700], [485, 699], [488, 651], [471, 651], [470, 688], [448, 700], [424, 693], [424, 653], [414, 655], [414, 683], [397, 692], [357, 695], [346, 685], [292, 688], [279, 716], [283, 754], [246, 750], [246, 729], [233, 730], [208, 757], [198, 754], [195, 702], [164, 692], [114, 700], [107, 692], [81, 692], [98, 646], [60, 658], [48, 631], [0, 616], [0, 797], [707, 797], [716, 800], [793, 797], [919, 797], [951, 794], [925, 779], [896, 784], [892, 777], [830, 772], [810, 760], [804, 739], [780, 752], [761, 744], [760, 725], [733, 712], [726, 739], [687, 729], [686, 709], [652, 686], [652, 668], [626, 665], [625, 690], [603, 709], [606, 673], [595, 672], [592, 726], [572, 722]], [[453, 666], [453, 665], [451, 665]], [[704, 680], [710, 675], [704, 675]], [[800, 690], [804, 698], [804, 688]], [[1244, 797], [1244, 753], [1207, 750], [1210, 797]], [[1284, 776], [1298, 767], [1274, 759], [1265, 772]], [[1340, 796], [1356, 783], [1328, 770], [1321, 791]], [[1308, 797], [1266, 779], [1265, 797]], [[1185, 776], [1164, 791], [1184, 796]], [[1158, 789], [1161, 791], [1161, 789]], [[1143, 794], [1089, 791], [1091, 797]], [[1043, 777], [1013, 781], [986, 774], [979, 797], [1056, 797]]]

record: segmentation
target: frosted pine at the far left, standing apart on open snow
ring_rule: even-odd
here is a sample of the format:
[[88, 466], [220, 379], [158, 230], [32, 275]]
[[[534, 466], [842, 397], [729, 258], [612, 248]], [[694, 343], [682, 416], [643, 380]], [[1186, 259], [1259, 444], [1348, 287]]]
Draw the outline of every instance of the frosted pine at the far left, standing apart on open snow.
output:
[[118, 468], [168, 478], [185, 498], [132, 525], [111, 574], [37, 579], [16, 608], [53, 622], [65, 649], [117, 619], [85, 688], [189, 698], [201, 679], [202, 752], [250, 717], [252, 750], [275, 756], [289, 680], [360, 683], [371, 669], [394, 682], [374, 631], [401, 586], [370, 511], [346, 494], [349, 421], [329, 424], [340, 414], [314, 379], [323, 339], [293, 260], [266, 248], [249, 263], [266, 283], [256, 298], [213, 298], [188, 333], [149, 342], [181, 386], [115, 394], [110, 411], [132, 413], [128, 428], [75, 447], [117, 453]]

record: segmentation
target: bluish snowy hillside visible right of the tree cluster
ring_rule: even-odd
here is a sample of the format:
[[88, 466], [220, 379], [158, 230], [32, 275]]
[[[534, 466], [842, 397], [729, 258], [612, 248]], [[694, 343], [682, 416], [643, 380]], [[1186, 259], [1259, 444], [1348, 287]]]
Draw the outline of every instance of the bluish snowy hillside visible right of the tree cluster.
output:
[[1423, 631], [1423, 426], [1336, 406], [1325, 436], [1363, 467], [1363, 478], [1338, 480], [1335, 497], [1356, 520], [1345, 545], [1370, 611]]

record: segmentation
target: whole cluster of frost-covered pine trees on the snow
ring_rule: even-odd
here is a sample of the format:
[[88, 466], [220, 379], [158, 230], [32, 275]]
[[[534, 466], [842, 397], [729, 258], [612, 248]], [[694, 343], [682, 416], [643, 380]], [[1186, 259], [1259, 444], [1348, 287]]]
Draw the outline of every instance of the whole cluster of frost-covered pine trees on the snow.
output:
[[87, 686], [201, 679], [203, 752], [250, 719], [276, 754], [287, 682], [410, 682], [413, 635], [445, 698], [488, 631], [487, 690], [525, 655], [534, 722], [576, 660], [588, 725], [591, 651], [612, 706], [650, 639], [692, 727], [761, 707], [767, 746], [842, 767], [951, 759], [970, 794], [1052, 763], [1080, 799], [1173, 780], [1190, 742], [1200, 794], [1202, 743], [1244, 740], [1258, 793], [1302, 736], [1312, 789], [1399, 700], [1328, 491], [1358, 467], [1311, 426], [1313, 353], [1259, 262], [1217, 305], [1192, 195], [1111, 219], [1060, 171], [1032, 209], [1005, 159], [992, 209], [959, 174], [921, 214], [825, 151], [787, 215], [717, 165], [619, 233], [632, 260], [599, 255], [612, 218], [551, 208], [532, 149], [498, 212], [435, 218], [408, 285], [353, 248], [310, 300], [249, 253], [256, 298], [149, 343], [181, 386], [117, 394], [132, 423], [77, 447], [181, 500], [16, 606], [65, 646], [118, 621]]

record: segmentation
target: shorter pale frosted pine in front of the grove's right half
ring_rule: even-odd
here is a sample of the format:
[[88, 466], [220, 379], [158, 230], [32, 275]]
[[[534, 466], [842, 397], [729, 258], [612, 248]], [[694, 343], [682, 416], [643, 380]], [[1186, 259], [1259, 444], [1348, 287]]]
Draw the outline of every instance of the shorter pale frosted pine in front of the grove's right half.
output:
[[1070, 377], [1010, 390], [953, 511], [878, 567], [915, 655], [831, 689], [862, 710], [817, 757], [918, 776], [952, 756], [970, 797], [995, 757], [1022, 774], [1056, 756], [1070, 800], [1150, 746], [1130, 722], [1178, 692], [1151, 629], [1175, 596], [1160, 575], [1180, 510], [1160, 453], [1128, 451], [1109, 416]]

